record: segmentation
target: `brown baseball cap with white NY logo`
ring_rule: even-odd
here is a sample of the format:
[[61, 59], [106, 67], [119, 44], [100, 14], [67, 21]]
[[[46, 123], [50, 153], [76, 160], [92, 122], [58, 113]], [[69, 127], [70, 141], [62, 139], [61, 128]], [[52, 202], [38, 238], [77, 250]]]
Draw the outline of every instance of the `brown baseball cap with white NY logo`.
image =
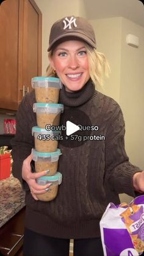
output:
[[63, 38], [70, 39], [75, 37], [84, 40], [88, 45], [96, 48], [95, 33], [91, 24], [84, 18], [67, 16], [52, 25], [48, 51]]

